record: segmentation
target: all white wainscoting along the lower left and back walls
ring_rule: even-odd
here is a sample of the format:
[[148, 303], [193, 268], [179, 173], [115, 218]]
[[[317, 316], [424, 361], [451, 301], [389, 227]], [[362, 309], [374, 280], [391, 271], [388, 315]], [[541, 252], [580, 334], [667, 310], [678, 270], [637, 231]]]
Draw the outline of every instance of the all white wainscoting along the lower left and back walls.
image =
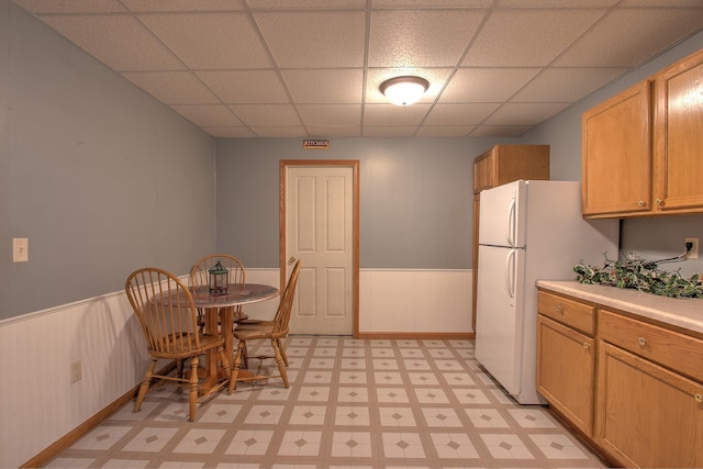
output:
[[[247, 281], [279, 286], [278, 269]], [[361, 334], [471, 332], [470, 270], [359, 272]], [[245, 306], [271, 319], [278, 299]], [[0, 321], [0, 467], [18, 467], [134, 389], [148, 365], [124, 292]], [[82, 379], [70, 383], [71, 364]]]

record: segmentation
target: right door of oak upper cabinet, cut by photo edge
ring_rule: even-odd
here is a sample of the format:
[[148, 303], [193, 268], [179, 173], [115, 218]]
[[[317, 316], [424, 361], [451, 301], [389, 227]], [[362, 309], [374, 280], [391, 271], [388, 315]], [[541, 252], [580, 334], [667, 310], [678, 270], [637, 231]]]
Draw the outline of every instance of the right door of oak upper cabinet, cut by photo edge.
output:
[[703, 51], [656, 76], [655, 205], [703, 212]]

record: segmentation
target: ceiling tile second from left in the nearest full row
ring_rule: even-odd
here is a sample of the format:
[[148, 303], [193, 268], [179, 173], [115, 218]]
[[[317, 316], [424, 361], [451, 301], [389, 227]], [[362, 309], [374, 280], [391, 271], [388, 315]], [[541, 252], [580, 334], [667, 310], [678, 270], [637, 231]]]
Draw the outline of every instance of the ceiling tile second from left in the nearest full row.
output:
[[194, 69], [272, 66], [268, 51], [245, 13], [142, 14], [140, 19]]

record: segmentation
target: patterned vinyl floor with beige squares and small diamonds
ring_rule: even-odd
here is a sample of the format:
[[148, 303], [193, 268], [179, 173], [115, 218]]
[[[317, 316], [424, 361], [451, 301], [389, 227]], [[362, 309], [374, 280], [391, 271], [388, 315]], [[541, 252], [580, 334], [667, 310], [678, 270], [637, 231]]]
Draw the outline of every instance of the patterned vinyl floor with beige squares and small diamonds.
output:
[[286, 344], [289, 389], [280, 378], [238, 383], [189, 423], [186, 394], [166, 384], [141, 412], [132, 401], [46, 467], [607, 467], [545, 407], [506, 397], [476, 361], [473, 340]]

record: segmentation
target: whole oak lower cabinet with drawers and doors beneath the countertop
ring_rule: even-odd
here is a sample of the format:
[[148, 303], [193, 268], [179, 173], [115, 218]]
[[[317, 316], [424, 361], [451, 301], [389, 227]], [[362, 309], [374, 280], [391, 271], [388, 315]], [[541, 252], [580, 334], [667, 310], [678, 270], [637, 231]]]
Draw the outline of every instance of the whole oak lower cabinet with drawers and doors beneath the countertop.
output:
[[549, 405], [617, 465], [703, 468], [703, 339], [537, 298], [537, 390]]

